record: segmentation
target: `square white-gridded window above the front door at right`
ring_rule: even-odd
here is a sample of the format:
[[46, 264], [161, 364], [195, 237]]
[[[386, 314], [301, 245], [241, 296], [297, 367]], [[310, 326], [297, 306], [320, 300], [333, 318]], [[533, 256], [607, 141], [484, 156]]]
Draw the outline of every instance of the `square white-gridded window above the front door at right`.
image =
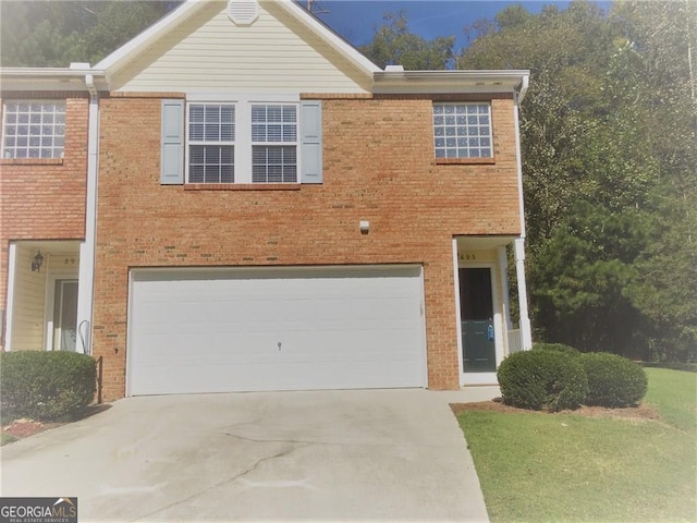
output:
[[490, 104], [433, 104], [436, 158], [492, 158]]

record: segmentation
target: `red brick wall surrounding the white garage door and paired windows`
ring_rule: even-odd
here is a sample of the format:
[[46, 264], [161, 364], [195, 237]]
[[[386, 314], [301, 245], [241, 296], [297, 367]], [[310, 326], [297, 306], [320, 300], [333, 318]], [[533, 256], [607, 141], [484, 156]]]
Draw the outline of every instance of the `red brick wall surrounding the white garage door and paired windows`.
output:
[[492, 100], [496, 163], [484, 166], [436, 165], [430, 99], [322, 107], [321, 185], [195, 191], [159, 184], [159, 99], [101, 101], [94, 351], [105, 398], [125, 390], [129, 268], [150, 266], [423, 264], [429, 386], [458, 387], [452, 238], [519, 233], [513, 101]]

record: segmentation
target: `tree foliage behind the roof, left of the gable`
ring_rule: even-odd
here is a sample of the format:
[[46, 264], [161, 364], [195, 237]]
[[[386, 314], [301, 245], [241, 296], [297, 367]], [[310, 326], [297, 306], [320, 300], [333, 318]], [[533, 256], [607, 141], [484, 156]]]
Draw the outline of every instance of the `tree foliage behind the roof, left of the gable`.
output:
[[2, 66], [96, 63], [179, 1], [0, 1]]

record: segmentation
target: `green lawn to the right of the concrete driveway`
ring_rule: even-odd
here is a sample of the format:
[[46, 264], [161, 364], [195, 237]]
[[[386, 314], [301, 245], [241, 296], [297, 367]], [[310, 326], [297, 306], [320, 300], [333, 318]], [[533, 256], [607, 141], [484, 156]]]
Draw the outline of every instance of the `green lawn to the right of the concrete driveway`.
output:
[[697, 521], [697, 376], [646, 372], [659, 421], [460, 413], [492, 523]]

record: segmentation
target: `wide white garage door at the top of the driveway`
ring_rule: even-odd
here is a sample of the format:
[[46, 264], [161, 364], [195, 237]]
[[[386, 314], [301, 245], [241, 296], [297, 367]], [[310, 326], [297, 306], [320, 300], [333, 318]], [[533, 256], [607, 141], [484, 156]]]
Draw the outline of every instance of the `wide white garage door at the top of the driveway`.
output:
[[420, 267], [134, 269], [129, 394], [425, 387]]

